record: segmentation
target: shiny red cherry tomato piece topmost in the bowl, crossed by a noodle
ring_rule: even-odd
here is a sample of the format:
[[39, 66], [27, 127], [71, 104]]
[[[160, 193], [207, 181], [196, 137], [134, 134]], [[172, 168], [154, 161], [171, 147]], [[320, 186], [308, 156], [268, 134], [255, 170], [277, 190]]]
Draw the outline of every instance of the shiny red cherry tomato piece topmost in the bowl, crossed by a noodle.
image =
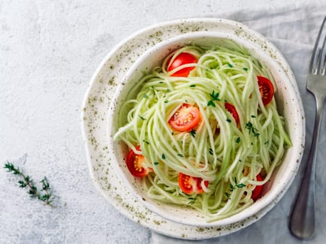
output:
[[[174, 70], [175, 68], [178, 68], [179, 66], [182, 66], [182, 65], [188, 64], [188, 63], [197, 63], [197, 59], [192, 54], [188, 54], [187, 52], [181, 52], [181, 54], [176, 56], [172, 62], [171, 62], [171, 60], [168, 62], [168, 72]], [[181, 68], [181, 70], [173, 73], [171, 76], [188, 77], [189, 73], [194, 68], [195, 67]]]

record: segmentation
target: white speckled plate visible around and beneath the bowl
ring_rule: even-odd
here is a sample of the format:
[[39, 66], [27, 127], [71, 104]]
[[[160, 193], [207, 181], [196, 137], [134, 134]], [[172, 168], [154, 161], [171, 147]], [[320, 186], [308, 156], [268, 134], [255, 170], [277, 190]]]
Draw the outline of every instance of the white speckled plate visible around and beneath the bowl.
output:
[[[214, 238], [217, 236], [223, 236], [230, 234], [234, 231], [238, 231], [244, 227], [249, 226], [253, 222], [262, 218], [277, 202], [278, 199], [285, 194], [286, 190], [280, 192], [276, 197], [276, 201], [272, 202], [259, 213], [247, 218], [246, 220], [229, 224], [223, 227], [193, 227], [185, 224], [179, 224], [171, 222], [162, 218], [161, 216], [152, 213], [145, 208], [142, 204], [135, 199], [130, 192], [121, 185], [121, 180], [114, 174], [114, 169], [110, 164], [110, 158], [108, 158], [108, 145], [105, 138], [105, 126], [107, 109], [110, 105], [112, 93], [117, 86], [114, 79], [121, 79], [128, 68], [133, 62], [140, 56], [140, 49], [144, 52], [146, 49], [159, 43], [163, 38], [170, 38], [177, 36], [180, 33], [189, 33], [193, 31], [230, 31], [238, 36], [250, 40], [255, 44], [264, 45], [277, 57], [277, 62], [281, 65], [284, 71], [287, 73], [292, 89], [297, 94], [297, 100], [299, 102], [299, 108], [302, 113], [302, 152], [304, 149], [304, 137], [305, 137], [305, 121], [304, 121], [304, 109], [302, 101], [299, 96], [297, 84], [295, 82], [294, 75], [288, 66], [287, 61], [279, 50], [269, 42], [265, 37], [252, 31], [244, 24], [234, 22], [231, 20], [223, 20], [216, 18], [193, 18], [183, 20], [173, 20], [171, 22], [163, 22], [149, 26], [134, 33], [126, 40], [123, 40], [112, 51], [105, 56], [105, 59], [101, 62], [97, 68], [93, 77], [89, 89], [87, 90], [82, 106], [82, 135], [87, 152], [87, 159], [89, 161], [89, 169], [91, 179], [94, 181], [96, 189], [110, 201], [110, 203], [118, 209], [121, 213], [126, 215], [131, 220], [139, 222], [145, 227], [157, 231], [158, 233], [165, 234], [167, 236], [173, 236], [177, 238], [186, 239], [203, 239]], [[140, 53], [139, 53], [140, 52]], [[114, 74], [114, 75], [108, 75]], [[106, 75], [106, 77], [104, 77]], [[104, 134], [104, 135], [103, 135]], [[104, 137], [104, 138], [103, 138]], [[293, 171], [292, 183], [301, 156], [297, 159], [297, 168]], [[290, 187], [290, 184], [288, 185]]]

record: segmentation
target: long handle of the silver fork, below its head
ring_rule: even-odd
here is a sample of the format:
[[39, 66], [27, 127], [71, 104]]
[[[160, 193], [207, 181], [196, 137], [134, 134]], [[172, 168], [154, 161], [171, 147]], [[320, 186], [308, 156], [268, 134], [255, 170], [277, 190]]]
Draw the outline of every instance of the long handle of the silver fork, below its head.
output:
[[316, 151], [318, 148], [318, 137], [320, 123], [323, 118], [323, 103], [325, 96], [316, 98], [316, 119], [313, 128], [313, 141], [309, 153], [304, 178], [299, 190], [295, 207], [290, 219], [290, 231], [299, 239], [306, 240], [315, 233], [315, 175], [316, 175]]

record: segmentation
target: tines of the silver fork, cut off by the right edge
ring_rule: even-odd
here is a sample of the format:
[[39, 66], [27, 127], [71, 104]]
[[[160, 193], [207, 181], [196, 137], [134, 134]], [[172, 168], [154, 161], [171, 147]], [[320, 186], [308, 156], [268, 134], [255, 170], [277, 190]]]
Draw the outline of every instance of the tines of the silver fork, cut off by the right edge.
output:
[[[326, 16], [324, 17], [323, 20], [323, 24], [320, 26], [320, 30], [318, 32], [318, 37], [316, 38], [316, 43], [315, 46], [313, 47], [313, 54], [311, 56], [311, 61], [310, 61], [310, 66], [309, 66], [309, 72], [312, 73], [313, 75], [317, 75], [318, 70], [323, 70], [323, 72], [325, 73], [325, 38], [322, 38], [322, 34], [323, 37], [325, 36], [325, 32], [326, 29], [324, 28], [325, 26], [325, 22], [326, 22]], [[325, 29], [325, 31], [324, 31]], [[326, 37], [326, 36], [325, 36]], [[322, 68], [323, 69], [319, 69], [319, 67], [321, 66], [321, 61], [323, 61], [323, 65]]]

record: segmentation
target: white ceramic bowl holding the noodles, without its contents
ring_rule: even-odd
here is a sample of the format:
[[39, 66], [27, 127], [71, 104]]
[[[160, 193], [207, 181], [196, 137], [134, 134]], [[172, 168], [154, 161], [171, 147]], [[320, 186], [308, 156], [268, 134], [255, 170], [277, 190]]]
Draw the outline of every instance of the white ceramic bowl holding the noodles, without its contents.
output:
[[[290, 135], [293, 146], [286, 151], [281, 166], [274, 172], [268, 187], [265, 187], [262, 198], [255, 201], [254, 204], [241, 213], [232, 215], [230, 218], [207, 223], [205, 221], [205, 216], [195, 209], [172, 204], [163, 204], [162, 202], [149, 199], [140, 184], [140, 179], [132, 176], [126, 167], [126, 162], [124, 161], [128, 153], [126, 146], [121, 142], [113, 142], [112, 135], [114, 135], [118, 129], [118, 114], [121, 112], [120, 106], [129, 98], [135, 97], [136, 94], [132, 89], [135, 86], [135, 81], [143, 76], [144, 70], [150, 71], [155, 66], [158, 66], [163, 61], [163, 58], [170, 54], [172, 50], [187, 45], [190, 41], [198, 45], [212, 45], [213, 43], [223, 43], [225, 39], [233, 40], [243, 45], [256, 59], [269, 67], [276, 81], [277, 91], [275, 93], [275, 98], [279, 113], [282, 114], [286, 120], [286, 130]], [[110, 104], [108, 112], [108, 145], [113, 167], [117, 170], [122, 182], [126, 184], [138, 201], [141, 201], [151, 211], [163, 216], [163, 218], [167, 220], [198, 227], [216, 227], [232, 224], [252, 217], [266, 206], [269, 206], [272, 202], [276, 204], [281, 199], [292, 183], [302, 158], [304, 145], [304, 137], [302, 136], [304, 135], [304, 114], [297, 89], [290, 82], [288, 74], [286, 73], [289, 70], [284, 70], [282, 63], [276, 61], [279, 60], [278, 58], [278, 56], [273, 56], [270, 49], [265, 49], [264, 46], [258, 45], [254, 41], [239, 38], [236, 34], [200, 31], [181, 34], [175, 38], [163, 40], [151, 49], [148, 49], [147, 52], [142, 54], [140, 58], [135, 61], [133, 66], [131, 66], [126, 73], [124, 80], [117, 86], [117, 91], [114, 93], [114, 98], [112, 98]], [[283, 56], [281, 59], [283, 59]]]

